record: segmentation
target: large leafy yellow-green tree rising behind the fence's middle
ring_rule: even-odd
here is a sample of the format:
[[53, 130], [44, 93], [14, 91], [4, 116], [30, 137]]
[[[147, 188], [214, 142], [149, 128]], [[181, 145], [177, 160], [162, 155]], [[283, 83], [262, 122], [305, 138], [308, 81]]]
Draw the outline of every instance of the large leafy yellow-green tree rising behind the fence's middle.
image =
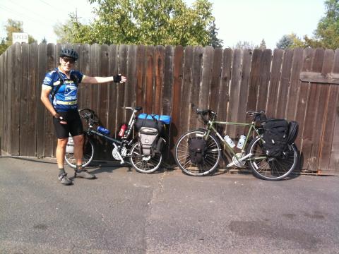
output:
[[89, 0], [96, 18], [89, 25], [71, 19], [56, 30], [59, 42], [202, 45], [210, 43], [212, 4], [196, 0]]

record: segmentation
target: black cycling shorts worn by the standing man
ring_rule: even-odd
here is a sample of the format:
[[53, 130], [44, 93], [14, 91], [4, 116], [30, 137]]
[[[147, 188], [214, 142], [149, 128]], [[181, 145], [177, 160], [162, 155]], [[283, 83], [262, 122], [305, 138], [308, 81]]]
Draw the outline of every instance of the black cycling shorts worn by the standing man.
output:
[[54, 129], [57, 133], [57, 138], [69, 138], [69, 133], [72, 136], [83, 134], [83, 123], [79, 116], [78, 110], [70, 110], [66, 112], [58, 112], [64, 118], [67, 124], [61, 124], [59, 119], [53, 117]]

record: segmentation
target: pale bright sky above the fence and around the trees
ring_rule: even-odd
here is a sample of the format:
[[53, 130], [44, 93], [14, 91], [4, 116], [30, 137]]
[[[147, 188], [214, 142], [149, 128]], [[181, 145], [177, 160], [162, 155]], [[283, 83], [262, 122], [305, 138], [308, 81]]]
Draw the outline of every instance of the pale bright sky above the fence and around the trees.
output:
[[[188, 6], [193, 0], [184, 0]], [[325, 0], [210, 0], [223, 47], [234, 47], [239, 41], [258, 45], [265, 40], [266, 47], [275, 49], [283, 35], [292, 32], [302, 38], [311, 37], [321, 17]], [[93, 20], [93, 5], [87, 0], [1, 0], [0, 38], [6, 37], [6, 20], [23, 21], [23, 30], [41, 42], [56, 43], [53, 26], [77, 13], [81, 23]]]

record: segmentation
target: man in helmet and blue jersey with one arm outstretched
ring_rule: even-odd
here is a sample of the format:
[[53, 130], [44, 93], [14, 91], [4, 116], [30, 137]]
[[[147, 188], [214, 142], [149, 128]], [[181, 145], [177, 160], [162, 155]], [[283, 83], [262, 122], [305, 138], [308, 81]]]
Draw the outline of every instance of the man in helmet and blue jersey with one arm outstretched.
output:
[[114, 77], [90, 77], [80, 71], [73, 70], [74, 63], [78, 59], [78, 53], [71, 48], [61, 49], [59, 66], [47, 73], [42, 83], [41, 100], [44, 107], [54, 116], [53, 123], [57, 133], [57, 164], [59, 167], [59, 181], [64, 185], [72, 182], [67, 177], [64, 169], [64, 156], [69, 133], [74, 140], [74, 156], [76, 157], [75, 176], [84, 179], [95, 179], [82, 167], [83, 159], [83, 125], [78, 114], [77, 90], [78, 84], [89, 83], [124, 83], [126, 77], [115, 75]]

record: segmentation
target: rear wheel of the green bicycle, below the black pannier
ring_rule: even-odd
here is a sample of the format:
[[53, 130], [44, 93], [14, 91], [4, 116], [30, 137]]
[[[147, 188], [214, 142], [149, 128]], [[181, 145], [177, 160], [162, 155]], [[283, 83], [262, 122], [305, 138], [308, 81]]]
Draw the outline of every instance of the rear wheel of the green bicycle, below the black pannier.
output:
[[283, 157], [267, 157], [262, 150], [263, 141], [258, 136], [249, 143], [247, 153], [251, 152], [249, 167], [254, 176], [264, 180], [281, 180], [297, 167], [298, 152], [295, 145], [288, 145]]

